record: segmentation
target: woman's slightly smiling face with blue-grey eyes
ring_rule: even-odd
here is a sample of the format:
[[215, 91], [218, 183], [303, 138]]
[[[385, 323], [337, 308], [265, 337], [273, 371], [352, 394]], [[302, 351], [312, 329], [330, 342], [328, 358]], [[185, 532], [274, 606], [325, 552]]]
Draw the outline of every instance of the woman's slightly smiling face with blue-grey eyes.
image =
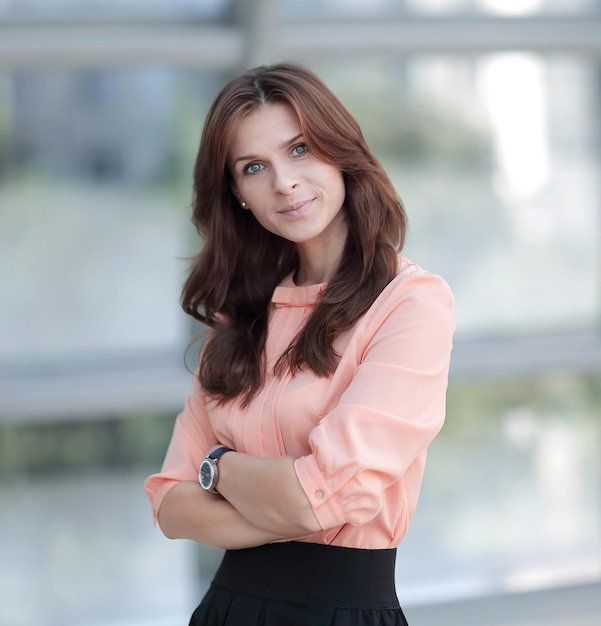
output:
[[230, 148], [233, 190], [264, 228], [297, 244], [301, 260], [303, 253], [338, 259], [347, 233], [342, 172], [305, 141], [289, 105], [250, 113]]

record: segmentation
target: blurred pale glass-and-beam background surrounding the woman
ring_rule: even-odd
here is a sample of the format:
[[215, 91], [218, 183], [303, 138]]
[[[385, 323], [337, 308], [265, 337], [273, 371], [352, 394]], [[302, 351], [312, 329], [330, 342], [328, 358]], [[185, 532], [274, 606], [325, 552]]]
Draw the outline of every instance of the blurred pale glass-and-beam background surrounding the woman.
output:
[[187, 623], [142, 490], [189, 389], [191, 171], [233, 73], [362, 125], [457, 299], [411, 626], [601, 623], [601, 0], [0, 0], [0, 624]]

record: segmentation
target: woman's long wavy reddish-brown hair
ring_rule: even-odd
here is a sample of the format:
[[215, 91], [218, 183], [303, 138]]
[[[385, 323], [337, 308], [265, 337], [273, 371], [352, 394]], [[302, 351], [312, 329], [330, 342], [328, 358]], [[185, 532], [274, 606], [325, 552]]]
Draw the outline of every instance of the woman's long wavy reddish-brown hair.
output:
[[274, 288], [298, 266], [293, 243], [265, 230], [232, 192], [227, 164], [232, 138], [250, 112], [274, 102], [298, 115], [309, 150], [340, 168], [348, 235], [340, 265], [276, 370], [336, 368], [333, 341], [371, 306], [398, 271], [407, 219], [361, 129], [326, 85], [288, 63], [231, 79], [207, 115], [194, 166], [193, 216], [204, 247], [184, 284], [181, 305], [212, 332], [199, 363], [200, 383], [219, 402], [246, 405], [265, 379], [264, 348]]

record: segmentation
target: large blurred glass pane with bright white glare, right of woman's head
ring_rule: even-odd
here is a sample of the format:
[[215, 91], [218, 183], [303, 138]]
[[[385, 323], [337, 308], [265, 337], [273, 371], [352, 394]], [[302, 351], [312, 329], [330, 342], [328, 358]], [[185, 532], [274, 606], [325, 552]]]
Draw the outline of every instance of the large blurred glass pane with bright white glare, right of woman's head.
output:
[[407, 254], [451, 283], [460, 337], [596, 327], [596, 59], [504, 52], [317, 68], [405, 201]]

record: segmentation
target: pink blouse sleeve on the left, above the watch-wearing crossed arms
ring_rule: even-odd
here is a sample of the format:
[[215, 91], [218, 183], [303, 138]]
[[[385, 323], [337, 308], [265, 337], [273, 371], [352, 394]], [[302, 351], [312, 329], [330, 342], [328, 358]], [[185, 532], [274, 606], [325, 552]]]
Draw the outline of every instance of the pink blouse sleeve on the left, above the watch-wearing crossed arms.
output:
[[177, 416], [163, 467], [144, 482], [156, 521], [163, 498], [174, 485], [184, 480], [198, 480], [198, 465], [206, 451], [217, 443], [206, 409], [206, 398], [193, 377], [192, 391], [184, 410]]

